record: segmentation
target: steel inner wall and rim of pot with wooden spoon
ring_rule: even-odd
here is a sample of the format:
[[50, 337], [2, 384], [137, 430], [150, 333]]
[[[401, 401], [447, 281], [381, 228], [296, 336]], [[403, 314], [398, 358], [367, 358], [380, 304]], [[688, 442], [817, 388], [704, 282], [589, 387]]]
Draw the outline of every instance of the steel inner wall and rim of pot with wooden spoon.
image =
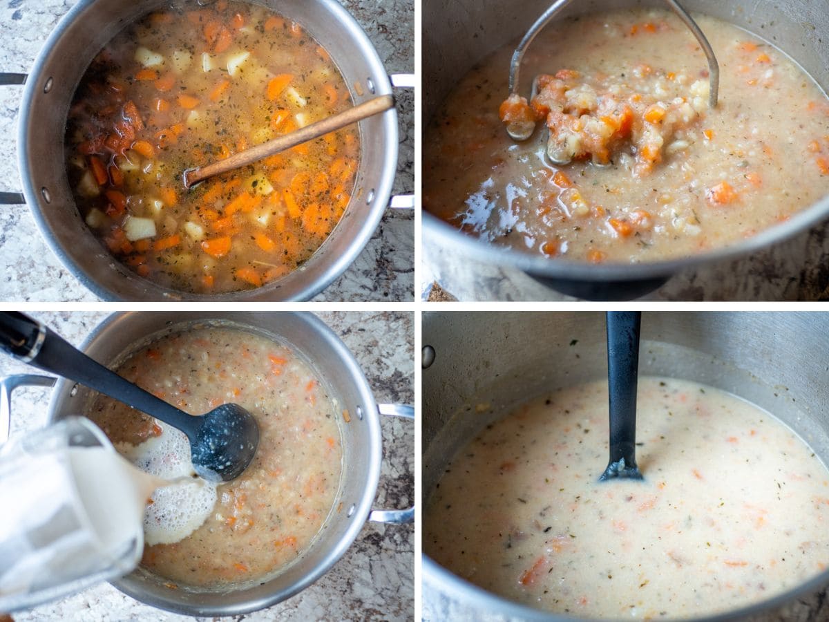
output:
[[[388, 76], [364, 33], [334, 0], [259, 0], [255, 2], [303, 24], [331, 52], [356, 104], [391, 92]], [[115, 261], [80, 218], [65, 173], [63, 138], [75, 88], [98, 51], [131, 22], [169, 4], [164, 0], [81, 0], [75, 16], [53, 32], [32, 70], [21, 113], [21, 162], [27, 201], [47, 241], [87, 287], [104, 298], [200, 299], [163, 289]], [[48, 90], [46, 85], [48, 86]], [[357, 95], [355, 86], [361, 86]], [[307, 299], [341, 274], [371, 237], [385, 210], [394, 179], [397, 122], [394, 109], [359, 124], [361, 163], [355, 192], [327, 241], [299, 270], [263, 288], [225, 294], [222, 299]], [[49, 197], [46, 201], [44, 189]], [[371, 197], [371, 200], [370, 200]]]

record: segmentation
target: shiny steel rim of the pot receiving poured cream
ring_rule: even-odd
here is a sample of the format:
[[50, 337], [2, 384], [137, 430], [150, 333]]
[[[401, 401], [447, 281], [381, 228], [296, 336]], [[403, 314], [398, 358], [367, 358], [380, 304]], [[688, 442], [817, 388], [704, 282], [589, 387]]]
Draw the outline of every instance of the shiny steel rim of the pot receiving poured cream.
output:
[[[227, 317], [228, 313], [239, 313], [235, 311], [119, 311], [115, 313], [110, 313], [106, 318], [104, 318], [104, 320], [97, 324], [95, 328], [93, 328], [92, 331], [84, 339], [83, 343], [81, 343], [80, 350], [86, 352], [95, 343], [105, 339], [107, 335], [109, 335], [110, 333], [121, 330], [122, 325], [124, 323], [128, 324], [129, 322], [131, 322], [130, 318], [132, 318], [133, 316], [138, 316], [146, 313], [153, 313], [153, 315], [160, 318], [159, 330], [162, 330], [164, 328], [171, 328], [181, 324], [205, 321], [210, 319], [226, 319], [230, 322], [237, 323], [242, 327], [248, 326], [250, 328], [257, 328], [255, 325], [245, 323], [244, 319], [240, 320], [238, 318]], [[319, 338], [322, 338], [324, 342], [327, 344], [327, 346], [332, 348], [332, 350], [340, 359], [340, 361], [344, 363], [344, 366], [349, 373], [351, 381], [356, 382], [357, 391], [361, 394], [362, 398], [361, 406], [363, 406], [363, 411], [365, 412], [366, 424], [368, 425], [366, 434], [369, 436], [368, 440], [369, 445], [371, 447], [371, 454], [369, 455], [368, 464], [366, 466], [367, 478], [366, 484], [364, 484], [364, 486], [362, 487], [363, 492], [361, 494], [360, 502], [356, 504], [354, 512], [351, 513], [351, 517], [354, 517], [354, 519], [351, 520], [351, 523], [347, 527], [347, 530], [337, 541], [337, 545], [335, 547], [332, 547], [332, 549], [326, 553], [322, 561], [317, 566], [313, 566], [313, 568], [310, 571], [308, 571], [308, 573], [306, 573], [300, 581], [297, 581], [285, 590], [280, 590], [274, 594], [269, 594], [261, 598], [248, 600], [240, 605], [200, 604], [195, 606], [189, 606], [179, 603], [175, 600], [167, 600], [162, 597], [158, 597], [158, 595], [153, 593], [148, 594], [145, 590], [141, 588], [140, 583], [136, 583], [135, 581], [132, 581], [130, 579], [130, 577], [133, 576], [133, 573], [135, 571], [119, 579], [110, 581], [110, 584], [114, 586], [116, 589], [146, 605], [157, 607], [158, 609], [162, 610], [167, 610], [172, 613], [192, 616], [243, 615], [248, 614], [252, 611], [262, 610], [269, 606], [276, 605], [279, 602], [288, 600], [288, 598], [297, 595], [298, 592], [304, 590], [305, 588], [313, 584], [327, 571], [329, 571], [332, 568], [332, 566], [334, 566], [334, 564], [336, 564], [337, 561], [339, 561], [342, 558], [342, 556], [347, 552], [347, 550], [351, 548], [351, 545], [356, 540], [356, 537], [359, 535], [359, 533], [362, 531], [362, 528], [368, 521], [369, 514], [371, 513], [371, 507], [376, 497], [377, 486], [380, 482], [380, 469], [382, 458], [380, 414], [377, 410], [377, 404], [374, 397], [374, 393], [373, 391], [371, 391], [371, 386], [369, 386], [368, 381], [366, 380], [366, 376], [362, 372], [360, 364], [356, 361], [356, 358], [348, 349], [346, 344], [342, 342], [342, 339], [337, 337], [337, 334], [334, 333], [332, 329], [329, 328], [327, 324], [322, 321], [322, 319], [318, 318], [317, 316], [313, 315], [313, 313], [310, 313], [308, 311], [274, 311], [269, 312], [268, 315], [277, 317], [279, 315], [292, 316], [294, 318], [300, 319], [308, 327], [309, 333], [313, 333], [317, 335]], [[164, 318], [169, 317], [173, 318], [173, 323], [164, 323]], [[124, 327], [124, 329], [126, 329], [126, 327]], [[146, 337], [146, 335], [144, 335], [143, 337]], [[141, 341], [141, 339], [142, 337], [138, 337], [136, 340], [133, 341], [133, 343], [135, 341]], [[290, 345], [291, 347], [293, 347], [293, 344]], [[70, 389], [70, 387], [74, 386], [75, 384], [76, 383], [74, 381], [66, 380], [65, 378], [58, 378], [54, 386], [54, 389], [51, 391], [48, 414], [46, 415], [47, 423], [51, 423], [55, 420], [55, 414], [58, 406], [60, 405], [58, 397], [61, 395], [63, 391]], [[344, 469], [342, 477], [345, 477], [346, 474], [347, 472]], [[345, 517], [345, 515], [343, 516], [344, 519], [350, 519], [348, 517]], [[363, 517], [362, 520], [360, 520], [360, 517]], [[267, 581], [265, 581], [265, 583], [267, 583]], [[171, 592], [171, 595], [174, 596], [176, 595], [177, 590], [168, 591]], [[232, 593], [232, 591], [230, 593]]]

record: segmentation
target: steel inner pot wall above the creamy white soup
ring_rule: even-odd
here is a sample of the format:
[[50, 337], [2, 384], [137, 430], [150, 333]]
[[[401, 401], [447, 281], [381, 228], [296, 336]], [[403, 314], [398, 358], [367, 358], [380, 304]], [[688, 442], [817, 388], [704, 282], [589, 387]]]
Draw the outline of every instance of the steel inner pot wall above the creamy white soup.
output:
[[[453, 454], [511, 407], [607, 377], [604, 313], [427, 313], [423, 344], [436, 352], [423, 372], [424, 499]], [[764, 408], [829, 464], [826, 313], [643, 313], [639, 366]]]

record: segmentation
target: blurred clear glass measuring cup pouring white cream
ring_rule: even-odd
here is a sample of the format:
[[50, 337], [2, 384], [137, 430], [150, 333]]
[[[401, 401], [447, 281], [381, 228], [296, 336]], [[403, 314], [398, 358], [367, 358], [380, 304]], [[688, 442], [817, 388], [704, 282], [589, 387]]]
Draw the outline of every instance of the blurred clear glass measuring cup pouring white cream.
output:
[[67, 417], [4, 445], [0, 612], [132, 571], [143, 550], [142, 516], [150, 493], [104, 433], [82, 417]]

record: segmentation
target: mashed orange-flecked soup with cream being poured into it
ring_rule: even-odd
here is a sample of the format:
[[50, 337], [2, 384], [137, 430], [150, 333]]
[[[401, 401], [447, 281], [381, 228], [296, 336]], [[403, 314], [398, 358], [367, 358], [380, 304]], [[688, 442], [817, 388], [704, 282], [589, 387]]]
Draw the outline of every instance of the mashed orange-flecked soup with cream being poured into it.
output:
[[[148, 518], [166, 518], [153, 515], [151, 504], [143, 567], [173, 584], [221, 587], [274, 575], [311, 546], [337, 501], [342, 435], [322, 379], [297, 352], [236, 328], [194, 328], [151, 343], [116, 371], [192, 415], [232, 402], [259, 425], [259, 447], [239, 478], [215, 492], [191, 491], [187, 503], [207, 507], [187, 537], [159, 535], [158, 522], [147, 525]], [[148, 443], [171, 434], [166, 424], [106, 396], [96, 398], [87, 416], [133, 461], [148, 454], [141, 450]], [[189, 462], [184, 443], [177, 451]], [[162, 461], [181, 459], [165, 456], [171, 446], [162, 445]], [[164, 489], [153, 498], [159, 493]]]

